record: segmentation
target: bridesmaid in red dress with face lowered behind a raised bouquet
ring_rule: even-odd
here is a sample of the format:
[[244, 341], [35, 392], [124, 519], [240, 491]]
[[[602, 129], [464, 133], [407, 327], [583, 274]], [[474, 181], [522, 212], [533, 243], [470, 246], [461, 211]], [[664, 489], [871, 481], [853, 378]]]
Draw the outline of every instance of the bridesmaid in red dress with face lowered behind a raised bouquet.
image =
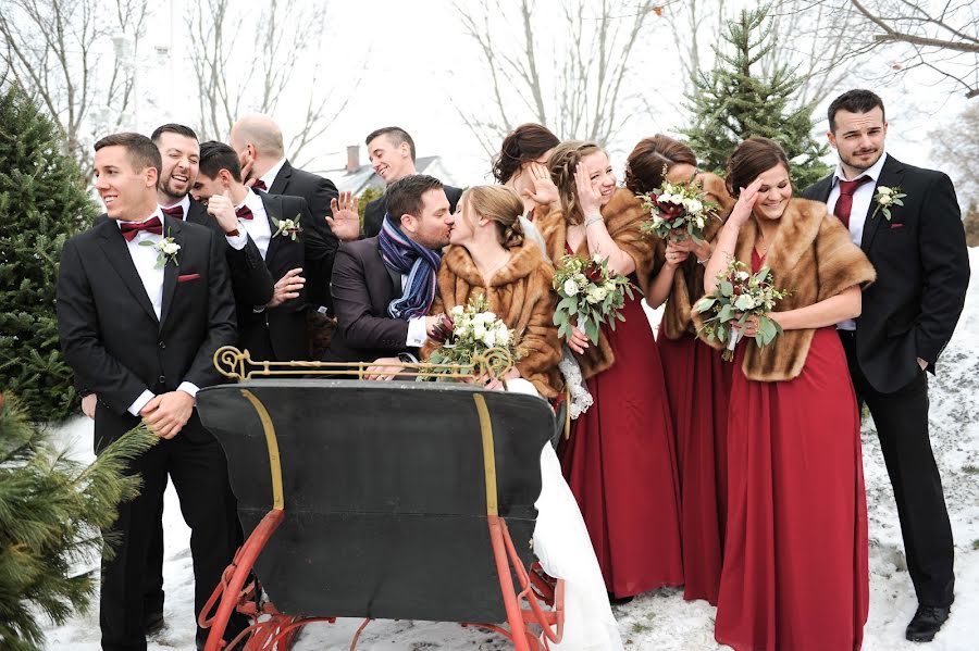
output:
[[728, 426], [731, 364], [699, 341], [690, 318], [691, 305], [704, 296], [704, 266], [710, 241], [717, 236], [734, 199], [724, 181], [697, 173], [697, 159], [683, 142], [661, 134], [640, 140], [625, 164], [625, 187], [636, 195], [653, 191], [666, 180], [699, 181], [719, 205], [719, 220], [704, 229], [704, 240], [654, 239], [654, 277], [646, 302], [659, 308], [666, 301], [656, 343], [662, 358], [667, 396], [680, 471], [680, 542], [683, 549], [683, 598], [706, 599], [717, 604], [723, 558]]

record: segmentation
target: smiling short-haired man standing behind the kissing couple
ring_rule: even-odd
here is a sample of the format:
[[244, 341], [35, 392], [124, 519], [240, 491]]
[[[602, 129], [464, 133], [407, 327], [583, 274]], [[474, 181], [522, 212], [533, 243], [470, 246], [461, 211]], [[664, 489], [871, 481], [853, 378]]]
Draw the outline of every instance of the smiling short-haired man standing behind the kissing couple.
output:
[[[391, 184], [405, 178], [410, 174], [418, 174], [414, 167], [414, 140], [408, 132], [400, 127], [387, 126], [371, 132], [364, 140], [368, 147], [368, 155], [374, 172]], [[453, 186], [443, 186], [445, 196], [449, 202], [449, 210], [456, 212], [456, 203], [462, 196], [462, 190]], [[363, 209], [363, 236], [376, 237], [381, 233], [381, 222], [384, 220], [385, 198], [379, 197], [368, 202]]]

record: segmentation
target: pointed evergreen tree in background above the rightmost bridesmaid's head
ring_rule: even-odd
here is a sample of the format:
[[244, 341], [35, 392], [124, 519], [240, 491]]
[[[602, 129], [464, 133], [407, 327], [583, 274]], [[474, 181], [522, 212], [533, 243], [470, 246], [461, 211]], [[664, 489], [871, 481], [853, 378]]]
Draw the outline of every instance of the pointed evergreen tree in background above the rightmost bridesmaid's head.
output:
[[743, 10], [722, 34], [732, 53], [715, 48], [717, 65], [694, 80], [690, 109], [694, 126], [683, 133], [704, 168], [723, 175], [732, 151], [752, 136], [782, 146], [791, 162], [794, 187], [802, 190], [829, 174], [819, 159], [828, 148], [813, 137], [815, 104], [793, 109], [792, 96], [803, 79], [788, 65], [759, 76], [760, 62], [778, 47], [768, 21], [769, 8]]

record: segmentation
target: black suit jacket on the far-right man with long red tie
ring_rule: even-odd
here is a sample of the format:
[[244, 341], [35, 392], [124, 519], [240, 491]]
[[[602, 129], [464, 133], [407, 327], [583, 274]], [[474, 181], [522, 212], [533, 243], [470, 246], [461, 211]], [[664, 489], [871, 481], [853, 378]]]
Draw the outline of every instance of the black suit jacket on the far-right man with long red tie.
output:
[[[904, 205], [871, 217], [860, 248], [877, 268], [877, 281], [863, 295], [856, 351], [860, 370], [881, 392], [893, 392], [918, 373], [917, 358], [934, 364], [962, 314], [969, 285], [969, 259], [955, 188], [947, 175], [906, 165], [888, 155], [877, 187], [900, 187]], [[832, 176], [803, 197], [826, 201]], [[875, 188], [875, 197], [877, 195]]]

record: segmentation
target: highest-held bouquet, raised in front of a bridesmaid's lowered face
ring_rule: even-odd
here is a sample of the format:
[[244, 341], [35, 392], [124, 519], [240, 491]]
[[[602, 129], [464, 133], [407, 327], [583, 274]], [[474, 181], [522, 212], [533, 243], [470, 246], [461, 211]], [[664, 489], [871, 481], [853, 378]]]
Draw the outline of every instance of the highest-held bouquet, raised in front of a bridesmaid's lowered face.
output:
[[[662, 175], [666, 178], [666, 167]], [[640, 195], [640, 198], [650, 216], [640, 228], [643, 233], [655, 235], [660, 239], [666, 239], [674, 230], [680, 229], [685, 230], [695, 242], [703, 241], [707, 221], [717, 218], [718, 205], [707, 199], [707, 193], [701, 189], [698, 180], [686, 184], [664, 180], [661, 187], [646, 195]], [[685, 237], [681, 235], [679, 239]]]

